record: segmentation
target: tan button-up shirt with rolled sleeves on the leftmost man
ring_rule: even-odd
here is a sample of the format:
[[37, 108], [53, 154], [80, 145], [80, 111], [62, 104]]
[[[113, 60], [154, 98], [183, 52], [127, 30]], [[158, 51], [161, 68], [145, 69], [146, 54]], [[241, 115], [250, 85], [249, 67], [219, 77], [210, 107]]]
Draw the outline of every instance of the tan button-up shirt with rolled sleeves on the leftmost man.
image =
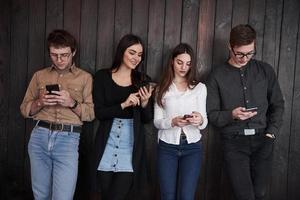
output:
[[[60, 74], [52, 66], [37, 71], [27, 88], [20, 106], [24, 117], [53, 123], [82, 125], [82, 121], [92, 121], [95, 118], [92, 98], [92, 76], [72, 65], [70, 70]], [[81, 116], [76, 115], [70, 108], [61, 105], [45, 106], [38, 113], [31, 116], [31, 104], [39, 97], [39, 93], [46, 93], [46, 85], [58, 84], [60, 90], [66, 90], [81, 107]]]

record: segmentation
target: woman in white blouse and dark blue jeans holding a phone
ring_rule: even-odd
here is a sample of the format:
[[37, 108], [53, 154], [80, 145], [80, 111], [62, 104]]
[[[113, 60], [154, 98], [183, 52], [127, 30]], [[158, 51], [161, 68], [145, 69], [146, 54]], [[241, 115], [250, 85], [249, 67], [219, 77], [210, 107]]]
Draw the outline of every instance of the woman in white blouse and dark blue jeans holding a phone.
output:
[[[177, 45], [156, 91], [161, 200], [194, 200], [202, 160], [201, 130], [207, 125], [206, 86], [198, 81], [193, 49]], [[178, 176], [178, 177], [177, 177]]]

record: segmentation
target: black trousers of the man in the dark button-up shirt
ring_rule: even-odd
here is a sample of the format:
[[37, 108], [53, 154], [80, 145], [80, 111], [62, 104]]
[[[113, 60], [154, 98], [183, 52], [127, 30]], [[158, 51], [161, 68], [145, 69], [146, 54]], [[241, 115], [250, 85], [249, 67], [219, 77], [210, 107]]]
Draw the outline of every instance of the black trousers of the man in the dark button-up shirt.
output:
[[224, 159], [237, 200], [266, 197], [274, 139], [265, 134], [222, 137]]

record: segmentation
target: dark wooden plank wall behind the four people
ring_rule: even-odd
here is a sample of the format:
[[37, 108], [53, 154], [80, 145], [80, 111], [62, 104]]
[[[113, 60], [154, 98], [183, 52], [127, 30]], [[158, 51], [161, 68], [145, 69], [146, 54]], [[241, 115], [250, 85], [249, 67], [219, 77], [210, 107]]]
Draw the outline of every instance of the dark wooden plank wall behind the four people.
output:
[[[300, 199], [299, 0], [0, 0], [0, 199], [31, 198], [27, 142], [32, 122], [22, 118], [19, 106], [34, 71], [49, 64], [45, 38], [51, 30], [75, 35], [76, 61], [91, 73], [110, 65], [122, 35], [140, 35], [147, 72], [158, 80], [169, 50], [181, 41], [195, 49], [205, 78], [227, 58], [229, 31], [239, 23], [256, 28], [256, 57], [273, 65], [286, 101], [268, 199]], [[87, 163], [96, 126], [87, 124], [82, 135], [77, 199], [88, 199]], [[156, 132], [151, 124], [146, 130], [153, 199], [158, 199]], [[212, 127], [204, 144], [197, 199], [232, 199], [220, 137]]]

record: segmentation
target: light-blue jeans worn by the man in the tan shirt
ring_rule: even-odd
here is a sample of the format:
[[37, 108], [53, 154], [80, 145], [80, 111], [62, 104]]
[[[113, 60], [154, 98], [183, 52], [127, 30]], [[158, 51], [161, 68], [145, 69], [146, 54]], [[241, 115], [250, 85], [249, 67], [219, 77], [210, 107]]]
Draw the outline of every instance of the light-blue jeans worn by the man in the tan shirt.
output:
[[75, 191], [80, 134], [36, 126], [28, 153], [36, 200], [71, 200]]

